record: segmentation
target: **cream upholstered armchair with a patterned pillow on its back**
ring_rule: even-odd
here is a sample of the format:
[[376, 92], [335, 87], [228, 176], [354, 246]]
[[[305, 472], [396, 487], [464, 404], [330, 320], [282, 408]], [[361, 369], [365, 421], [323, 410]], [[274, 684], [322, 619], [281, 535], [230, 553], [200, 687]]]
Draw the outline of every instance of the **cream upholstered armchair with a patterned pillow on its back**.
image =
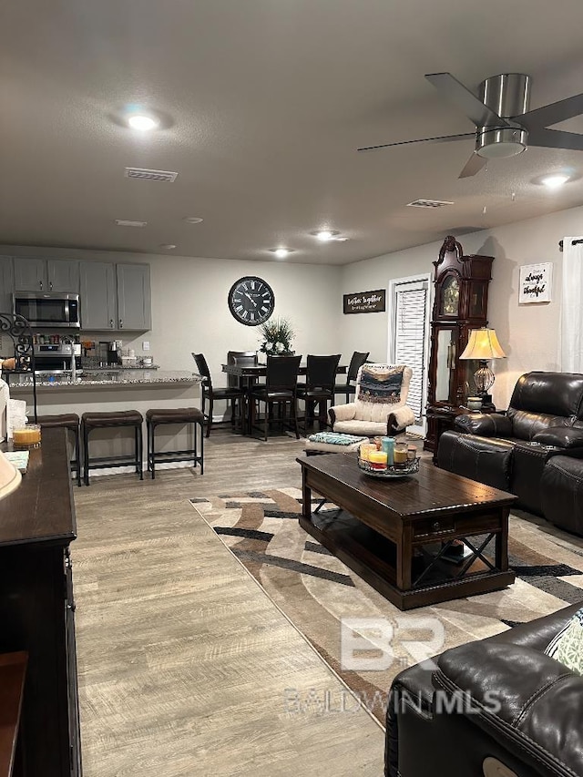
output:
[[328, 411], [333, 431], [368, 437], [403, 432], [415, 420], [406, 404], [412, 375], [404, 364], [363, 364], [354, 402], [336, 404]]

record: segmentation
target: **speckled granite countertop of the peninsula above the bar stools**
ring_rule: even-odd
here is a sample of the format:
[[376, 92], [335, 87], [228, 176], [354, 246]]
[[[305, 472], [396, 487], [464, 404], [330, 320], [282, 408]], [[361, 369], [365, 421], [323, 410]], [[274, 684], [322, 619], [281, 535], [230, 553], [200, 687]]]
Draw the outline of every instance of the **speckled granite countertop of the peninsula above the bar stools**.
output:
[[[87, 371], [73, 383], [69, 375], [54, 375], [50, 380], [45, 375], [39, 375], [36, 379], [36, 388], [50, 389], [82, 389], [82, 388], [107, 388], [109, 386], [145, 386], [145, 385], [169, 385], [182, 383], [185, 385], [200, 383], [197, 373], [189, 373], [180, 370], [95, 370]], [[10, 391], [31, 388], [32, 378], [29, 375], [19, 374], [10, 377]]]

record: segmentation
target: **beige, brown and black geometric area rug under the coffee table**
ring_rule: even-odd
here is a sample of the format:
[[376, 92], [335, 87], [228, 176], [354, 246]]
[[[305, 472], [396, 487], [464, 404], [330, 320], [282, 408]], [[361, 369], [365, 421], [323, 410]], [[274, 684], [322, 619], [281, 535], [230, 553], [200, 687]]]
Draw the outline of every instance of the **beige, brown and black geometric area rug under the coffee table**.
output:
[[513, 586], [405, 613], [303, 531], [298, 488], [190, 503], [380, 722], [405, 667], [583, 599], [583, 541], [527, 514], [510, 516]]

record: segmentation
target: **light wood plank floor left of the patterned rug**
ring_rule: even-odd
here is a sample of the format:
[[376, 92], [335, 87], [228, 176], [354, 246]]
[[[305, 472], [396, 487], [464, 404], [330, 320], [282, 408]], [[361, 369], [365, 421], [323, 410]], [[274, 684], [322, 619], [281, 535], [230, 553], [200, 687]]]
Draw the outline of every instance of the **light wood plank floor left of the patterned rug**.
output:
[[74, 488], [85, 777], [381, 777], [384, 732], [189, 505], [300, 486], [303, 443], [212, 433], [199, 470]]

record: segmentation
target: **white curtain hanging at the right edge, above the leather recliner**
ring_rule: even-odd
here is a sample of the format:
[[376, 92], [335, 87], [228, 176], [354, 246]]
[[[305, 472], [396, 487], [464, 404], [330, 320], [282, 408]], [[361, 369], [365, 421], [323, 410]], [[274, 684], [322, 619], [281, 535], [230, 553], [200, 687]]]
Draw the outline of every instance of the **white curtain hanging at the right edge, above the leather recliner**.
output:
[[564, 373], [583, 373], [583, 242], [563, 238], [560, 364]]

